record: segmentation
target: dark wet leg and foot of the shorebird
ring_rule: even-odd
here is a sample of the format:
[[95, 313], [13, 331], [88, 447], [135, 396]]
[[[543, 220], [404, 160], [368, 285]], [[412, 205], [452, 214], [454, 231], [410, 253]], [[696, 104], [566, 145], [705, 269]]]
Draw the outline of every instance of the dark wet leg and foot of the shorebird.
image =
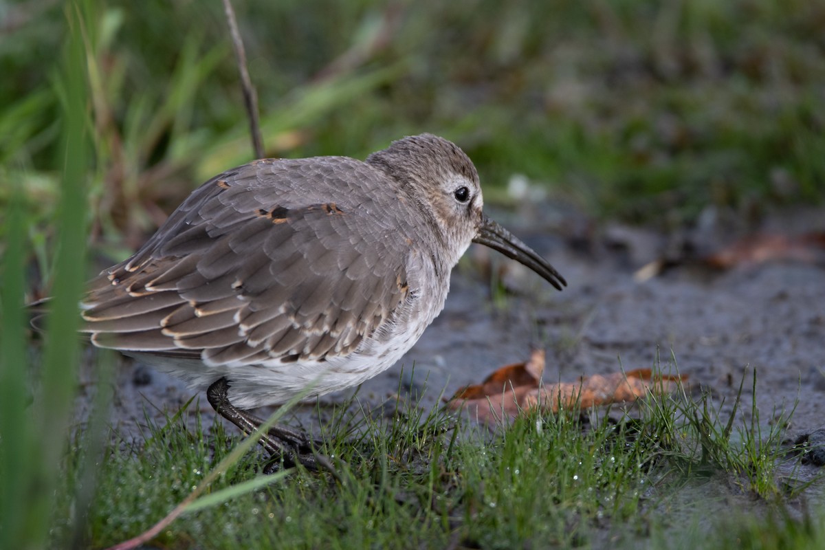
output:
[[[228, 390], [229, 382], [226, 378], [220, 378], [206, 390], [206, 398], [215, 412], [237, 425], [247, 434], [251, 434], [261, 427], [263, 421], [248, 411], [238, 409], [229, 402]], [[261, 436], [260, 443], [266, 449], [266, 452], [271, 455], [271, 458], [284, 458], [288, 467], [294, 466], [295, 463], [301, 463], [304, 468], [314, 471], [327, 468], [337, 477], [329, 460], [317, 454], [314, 450], [315, 447], [321, 446], [322, 442], [310, 440], [303, 432], [276, 425]], [[275, 468], [275, 464], [272, 463], [264, 469], [264, 472], [271, 473]]]

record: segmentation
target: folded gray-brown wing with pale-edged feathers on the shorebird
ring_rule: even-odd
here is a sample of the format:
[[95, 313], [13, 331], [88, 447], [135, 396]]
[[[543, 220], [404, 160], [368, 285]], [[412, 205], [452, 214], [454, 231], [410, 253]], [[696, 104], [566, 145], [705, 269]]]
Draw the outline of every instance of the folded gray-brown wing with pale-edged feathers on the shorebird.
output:
[[[97, 346], [206, 364], [324, 360], [407, 299], [408, 240], [369, 197], [299, 203], [287, 198], [298, 172], [265, 168], [208, 181], [92, 281], [82, 316]], [[328, 184], [324, 173], [300, 177]]]

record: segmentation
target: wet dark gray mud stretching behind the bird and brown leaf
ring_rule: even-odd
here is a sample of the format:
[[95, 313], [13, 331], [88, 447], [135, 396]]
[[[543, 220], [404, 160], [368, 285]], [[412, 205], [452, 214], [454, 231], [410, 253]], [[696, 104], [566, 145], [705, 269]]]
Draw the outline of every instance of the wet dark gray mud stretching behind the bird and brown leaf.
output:
[[[766, 430], [791, 409], [790, 438], [825, 425], [822, 250], [802, 261], [742, 262], [726, 270], [702, 261], [748, 234], [825, 232], [825, 210], [765, 214], [750, 223], [709, 210], [695, 228], [667, 236], [568, 212], [541, 204], [492, 213], [552, 261], [567, 278], [567, 289], [559, 293], [474, 245], [453, 274], [444, 312], [403, 360], [363, 385], [361, 403], [375, 407], [393, 402], [398, 388], [408, 396], [426, 385], [421, 406], [436, 407], [442, 390], [452, 395], [541, 346], [547, 353], [545, 381], [656, 364], [667, 372], [675, 363], [692, 388], [712, 392], [718, 403], [724, 399], [723, 412], [747, 377], [746, 420], [756, 369], [759, 421]], [[662, 258], [667, 267], [640, 280], [640, 268]], [[507, 292], [491, 283], [491, 273]], [[322, 408], [348, 395], [323, 397]], [[191, 396], [181, 383], [127, 360], [118, 373], [113, 423], [128, 439], [144, 423], [144, 408], [159, 416], [153, 407], [173, 411]], [[200, 411], [211, 416], [205, 396]], [[304, 407], [292, 422], [312, 430], [314, 407]], [[802, 481], [817, 475], [815, 466], [797, 462], [785, 467], [789, 475]]]

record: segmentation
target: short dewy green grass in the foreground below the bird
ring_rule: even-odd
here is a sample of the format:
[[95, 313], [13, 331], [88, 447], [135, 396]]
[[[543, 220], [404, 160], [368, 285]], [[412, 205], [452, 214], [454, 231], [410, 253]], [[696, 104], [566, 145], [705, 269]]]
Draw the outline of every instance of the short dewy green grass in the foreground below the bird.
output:
[[[533, 411], [492, 434], [446, 409], [423, 411], [415, 402], [399, 404], [389, 416], [371, 416], [357, 403], [345, 403], [327, 411], [331, 420], [323, 433], [323, 452], [334, 457], [341, 482], [328, 473], [289, 471], [268, 487], [181, 515], [152, 544], [598, 548], [612, 541], [635, 548], [661, 537], [668, 548], [681, 548], [683, 537], [673, 534], [688, 533], [691, 544], [703, 541], [702, 548], [733, 548], [734, 539], [756, 539], [769, 526], [775, 529], [771, 539], [821, 540], [820, 511], [795, 519], [784, 511], [797, 493], [775, 475], [776, 465], [789, 458], [780, 432], [760, 435], [746, 426], [731, 437], [727, 419], [721, 422], [719, 409], [710, 407], [708, 396], [686, 399], [676, 392], [644, 400], [619, 421], [607, 421], [603, 411]], [[83, 525], [82, 539], [91, 548], [151, 527], [238, 444], [237, 433], [225, 432], [221, 423], [202, 425], [197, 410], [190, 402], [160, 423], [147, 416], [143, 440], [106, 452]], [[90, 436], [78, 434], [60, 468], [50, 531], [55, 547], [76, 529], [73, 495]], [[265, 458], [257, 449], [243, 454], [205, 495], [257, 478]], [[744, 513], [719, 522], [711, 501], [703, 513], [701, 501], [681, 496], [685, 487], [707, 482], [752, 495], [742, 502], [772, 523], [757, 523]], [[686, 494], [701, 499], [703, 493]], [[675, 524], [667, 511], [697, 505], [700, 511], [686, 515], [686, 524]], [[706, 534], [690, 534], [691, 521], [716, 525], [719, 536], [709, 543]]]

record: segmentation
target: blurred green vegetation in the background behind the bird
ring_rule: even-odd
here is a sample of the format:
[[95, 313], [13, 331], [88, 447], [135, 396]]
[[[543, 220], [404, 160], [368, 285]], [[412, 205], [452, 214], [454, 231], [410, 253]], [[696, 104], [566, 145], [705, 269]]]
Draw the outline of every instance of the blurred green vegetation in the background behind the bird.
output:
[[[220, 2], [95, 4], [92, 240], [123, 256], [252, 148]], [[273, 156], [364, 157], [431, 131], [474, 158], [490, 199], [523, 174], [664, 227], [825, 189], [825, 2], [237, 4]], [[64, 10], [0, 13], [0, 201], [26, 190], [36, 251], [62, 162]]]

